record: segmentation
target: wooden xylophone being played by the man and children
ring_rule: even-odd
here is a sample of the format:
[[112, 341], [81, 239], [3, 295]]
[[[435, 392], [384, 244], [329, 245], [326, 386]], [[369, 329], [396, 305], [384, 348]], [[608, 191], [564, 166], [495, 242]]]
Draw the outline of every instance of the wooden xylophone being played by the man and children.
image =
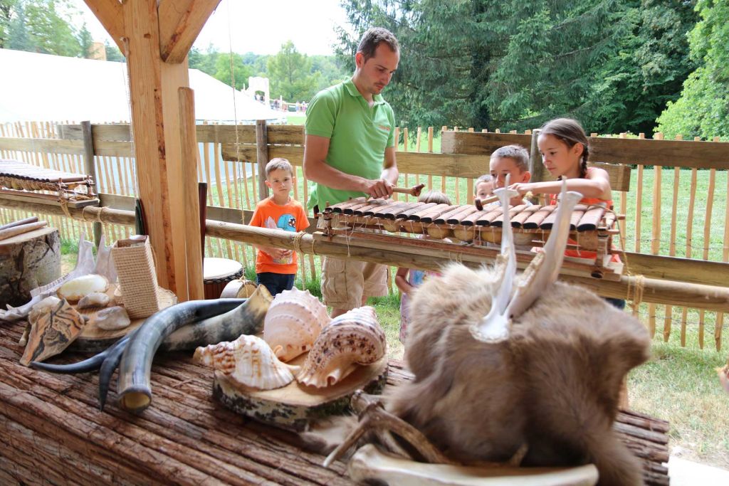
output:
[[[534, 246], [543, 246], [555, 222], [557, 206], [518, 205], [509, 208], [514, 243], [518, 251], [528, 253]], [[501, 243], [504, 211], [500, 205], [487, 205], [479, 211], [475, 205], [417, 203], [390, 199], [358, 197], [346, 203], [327, 206], [324, 235], [346, 235], [402, 245], [421, 246], [423, 240], [413, 235], [428, 235], [432, 240], [445, 240], [444, 249], [454, 251], [453, 243], [463, 248], [490, 248]], [[568, 255], [577, 256], [587, 273], [601, 278], [604, 273], [619, 275], [622, 264], [611, 262], [612, 236], [617, 234], [612, 211], [599, 205], [577, 205], [570, 223]], [[410, 234], [410, 238], [378, 235], [371, 230]], [[392, 239], [396, 238], [396, 239]], [[410, 240], [410, 241], [408, 241]], [[429, 243], [430, 244], [430, 243]], [[456, 250], [460, 251], [460, 250]], [[533, 253], [531, 254], [533, 256]], [[590, 260], [589, 263], [585, 260]], [[574, 266], [574, 265], [573, 265]]]

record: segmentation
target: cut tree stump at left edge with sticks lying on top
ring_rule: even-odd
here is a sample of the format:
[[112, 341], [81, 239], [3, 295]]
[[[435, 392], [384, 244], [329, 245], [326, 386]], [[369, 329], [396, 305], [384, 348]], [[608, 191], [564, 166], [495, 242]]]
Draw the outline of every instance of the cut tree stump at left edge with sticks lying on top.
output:
[[0, 307], [17, 307], [31, 299], [31, 290], [61, 277], [58, 230], [39, 230], [0, 240]]

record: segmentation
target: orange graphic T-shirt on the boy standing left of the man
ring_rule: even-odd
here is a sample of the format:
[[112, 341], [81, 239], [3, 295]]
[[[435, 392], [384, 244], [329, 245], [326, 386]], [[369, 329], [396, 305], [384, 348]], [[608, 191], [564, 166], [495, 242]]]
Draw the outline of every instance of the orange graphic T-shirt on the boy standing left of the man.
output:
[[[288, 203], [281, 206], [274, 203], [271, 197], [267, 197], [256, 205], [250, 224], [272, 230], [299, 232], [309, 226], [309, 220], [303, 206], [298, 201], [289, 199]], [[297, 268], [295, 251], [291, 256], [281, 260], [275, 260], [260, 250], [256, 256], [256, 273], [293, 274], [296, 273]]]

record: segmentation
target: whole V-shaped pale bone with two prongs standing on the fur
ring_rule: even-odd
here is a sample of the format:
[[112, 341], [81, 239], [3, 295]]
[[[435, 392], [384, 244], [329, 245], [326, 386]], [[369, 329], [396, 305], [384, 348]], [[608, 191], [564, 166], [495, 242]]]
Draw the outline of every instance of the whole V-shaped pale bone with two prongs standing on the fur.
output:
[[[514, 289], [514, 294], [511, 299], [509, 297], [512, 291], [512, 280], [516, 273], [516, 256], [514, 253], [508, 207], [509, 198], [515, 195], [507, 195], [508, 189], [496, 189], [494, 191], [494, 194], [499, 195], [502, 207], [504, 208], [502, 252], [496, 259], [502, 286], [496, 295], [492, 297], [491, 310], [489, 310], [486, 317], [479, 324], [471, 326], [470, 331], [475, 339], [483, 342], [502, 342], [507, 340], [509, 338], [509, 324], [511, 320], [527, 310], [537, 297], [539, 297], [539, 293], [547, 285], [557, 280], [559, 269], [564, 259], [564, 247], [569, 236], [569, 218], [572, 215], [574, 205], [582, 199], [582, 195], [579, 192], [568, 192], [566, 189], [566, 181], [563, 181], [555, 224], [547, 239], [544, 251], [534, 256], [529, 267], [524, 270], [521, 282]], [[507, 259], [506, 263], [504, 263], [504, 259]]]

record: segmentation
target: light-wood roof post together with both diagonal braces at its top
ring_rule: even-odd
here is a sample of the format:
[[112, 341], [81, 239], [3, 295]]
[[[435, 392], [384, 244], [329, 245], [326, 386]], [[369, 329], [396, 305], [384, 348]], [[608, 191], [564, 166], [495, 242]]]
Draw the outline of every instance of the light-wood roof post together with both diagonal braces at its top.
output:
[[[187, 52], [220, 0], [85, 0], [127, 58], [139, 198], [157, 283], [187, 299], [178, 87]], [[175, 235], [175, 238], [173, 238]]]

